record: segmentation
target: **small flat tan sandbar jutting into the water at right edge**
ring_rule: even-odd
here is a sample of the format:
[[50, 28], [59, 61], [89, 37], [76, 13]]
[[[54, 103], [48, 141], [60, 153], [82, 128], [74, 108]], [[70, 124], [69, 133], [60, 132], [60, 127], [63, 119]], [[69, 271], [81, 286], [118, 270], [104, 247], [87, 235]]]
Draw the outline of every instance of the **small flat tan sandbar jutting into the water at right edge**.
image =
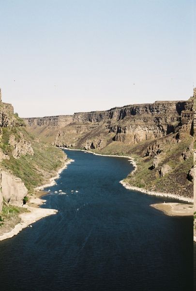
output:
[[193, 216], [193, 205], [184, 203], [156, 203], [151, 207], [169, 216]]

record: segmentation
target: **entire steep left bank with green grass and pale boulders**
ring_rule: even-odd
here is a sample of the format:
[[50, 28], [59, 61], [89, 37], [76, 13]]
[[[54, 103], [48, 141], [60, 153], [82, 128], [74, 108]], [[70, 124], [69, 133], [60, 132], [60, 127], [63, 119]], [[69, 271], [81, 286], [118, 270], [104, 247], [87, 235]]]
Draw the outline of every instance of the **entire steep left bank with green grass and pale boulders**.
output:
[[33, 196], [36, 186], [55, 176], [65, 160], [63, 151], [26, 131], [13, 106], [1, 101], [0, 92], [0, 211], [3, 204], [21, 207], [27, 195]]

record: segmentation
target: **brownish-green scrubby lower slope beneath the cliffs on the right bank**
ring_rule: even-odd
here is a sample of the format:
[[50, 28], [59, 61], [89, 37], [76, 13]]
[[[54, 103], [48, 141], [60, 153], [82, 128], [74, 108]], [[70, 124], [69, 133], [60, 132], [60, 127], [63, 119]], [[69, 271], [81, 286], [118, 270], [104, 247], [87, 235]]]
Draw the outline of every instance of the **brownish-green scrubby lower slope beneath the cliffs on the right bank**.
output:
[[[157, 139], [157, 141], [159, 140], [164, 139]], [[112, 142], [101, 150], [95, 149], [92, 151], [99, 154], [132, 156], [137, 163], [137, 169], [134, 175], [130, 174], [125, 178], [125, 181], [132, 186], [193, 197], [193, 182], [187, 178], [193, 166], [193, 154], [186, 160], [182, 156], [182, 153], [187, 150], [192, 140], [193, 138], [187, 135], [180, 143], [171, 145], [168, 142], [163, 144], [161, 147], [162, 157], [160, 166], [168, 164], [171, 167], [171, 171], [164, 177], [159, 177], [158, 170], [160, 167], [152, 169], [154, 156], [145, 156], [147, 146], [154, 142], [154, 140], [145, 141], [136, 146], [126, 145], [121, 142]]]

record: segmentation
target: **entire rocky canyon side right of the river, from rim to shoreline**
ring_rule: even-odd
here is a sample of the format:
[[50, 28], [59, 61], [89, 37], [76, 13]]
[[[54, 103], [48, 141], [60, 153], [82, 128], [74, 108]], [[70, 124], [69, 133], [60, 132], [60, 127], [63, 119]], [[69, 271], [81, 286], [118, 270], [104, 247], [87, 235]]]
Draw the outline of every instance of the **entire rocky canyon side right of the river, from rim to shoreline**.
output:
[[193, 198], [193, 98], [25, 122], [56, 146], [132, 156], [137, 169], [126, 182], [133, 186]]

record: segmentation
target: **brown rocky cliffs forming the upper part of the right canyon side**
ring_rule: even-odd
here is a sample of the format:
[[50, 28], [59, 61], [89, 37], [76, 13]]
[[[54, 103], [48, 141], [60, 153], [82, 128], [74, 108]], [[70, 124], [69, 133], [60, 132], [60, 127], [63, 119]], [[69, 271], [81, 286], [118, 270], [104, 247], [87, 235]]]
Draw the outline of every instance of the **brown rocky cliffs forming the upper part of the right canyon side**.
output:
[[[53, 143], [56, 146], [102, 149], [103, 141], [106, 146], [109, 136], [112, 141], [132, 146], [167, 136], [181, 128], [178, 136], [180, 140], [184, 131], [191, 132], [192, 119], [192, 101], [156, 101], [153, 104], [128, 105], [107, 111], [24, 120], [32, 130], [42, 128], [42, 135], [44, 132], [45, 136], [49, 135], [48, 132], [54, 134]], [[147, 154], [151, 154], [149, 151], [150, 148]]]

